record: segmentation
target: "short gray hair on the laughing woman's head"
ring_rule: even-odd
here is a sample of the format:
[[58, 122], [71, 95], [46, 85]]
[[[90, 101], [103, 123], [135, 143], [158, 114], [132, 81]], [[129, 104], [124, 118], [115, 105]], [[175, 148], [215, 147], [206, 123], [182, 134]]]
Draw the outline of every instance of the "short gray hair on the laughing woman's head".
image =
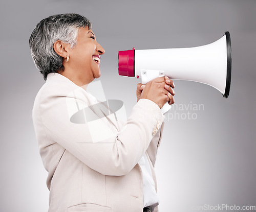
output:
[[29, 39], [29, 47], [34, 63], [45, 80], [49, 73], [64, 70], [63, 58], [53, 49], [55, 41], [70, 43], [74, 48], [79, 28], [87, 26], [91, 29], [90, 20], [74, 13], [52, 15], [36, 25]]

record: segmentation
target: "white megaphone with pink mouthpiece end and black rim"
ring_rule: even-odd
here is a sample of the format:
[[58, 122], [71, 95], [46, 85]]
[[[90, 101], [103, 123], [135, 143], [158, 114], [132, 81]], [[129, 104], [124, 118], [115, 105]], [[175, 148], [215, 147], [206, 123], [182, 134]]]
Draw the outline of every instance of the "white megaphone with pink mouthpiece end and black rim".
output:
[[228, 98], [231, 83], [231, 39], [193, 48], [126, 50], [118, 52], [120, 76], [137, 77], [142, 84], [156, 77], [195, 81], [210, 85]]

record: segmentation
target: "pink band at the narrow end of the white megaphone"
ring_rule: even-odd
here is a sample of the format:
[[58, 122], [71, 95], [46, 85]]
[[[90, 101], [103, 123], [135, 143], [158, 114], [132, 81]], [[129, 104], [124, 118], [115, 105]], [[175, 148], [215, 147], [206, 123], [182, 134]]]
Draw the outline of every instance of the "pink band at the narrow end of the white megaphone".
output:
[[134, 77], [135, 48], [133, 50], [118, 51], [118, 74]]

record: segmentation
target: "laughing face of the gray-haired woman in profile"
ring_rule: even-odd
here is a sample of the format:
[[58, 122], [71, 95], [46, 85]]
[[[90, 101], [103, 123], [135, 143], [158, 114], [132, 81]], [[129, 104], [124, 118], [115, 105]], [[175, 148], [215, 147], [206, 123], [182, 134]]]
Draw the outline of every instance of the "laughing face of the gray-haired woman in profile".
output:
[[77, 35], [77, 43], [70, 50], [70, 67], [79, 76], [85, 76], [90, 82], [100, 77], [100, 55], [105, 50], [96, 41], [92, 30], [88, 27], [80, 28]]

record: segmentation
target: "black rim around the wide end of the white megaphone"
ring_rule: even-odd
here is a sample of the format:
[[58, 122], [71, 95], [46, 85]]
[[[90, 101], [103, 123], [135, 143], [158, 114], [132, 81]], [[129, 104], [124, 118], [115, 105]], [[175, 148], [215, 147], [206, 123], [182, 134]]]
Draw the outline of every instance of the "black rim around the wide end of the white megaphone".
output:
[[230, 38], [229, 32], [225, 32], [224, 35], [226, 35], [226, 40], [227, 40], [227, 79], [226, 79], [225, 93], [224, 93], [223, 97], [228, 98], [229, 91], [230, 91], [230, 84], [231, 84], [231, 63], [232, 63], [231, 38]]

